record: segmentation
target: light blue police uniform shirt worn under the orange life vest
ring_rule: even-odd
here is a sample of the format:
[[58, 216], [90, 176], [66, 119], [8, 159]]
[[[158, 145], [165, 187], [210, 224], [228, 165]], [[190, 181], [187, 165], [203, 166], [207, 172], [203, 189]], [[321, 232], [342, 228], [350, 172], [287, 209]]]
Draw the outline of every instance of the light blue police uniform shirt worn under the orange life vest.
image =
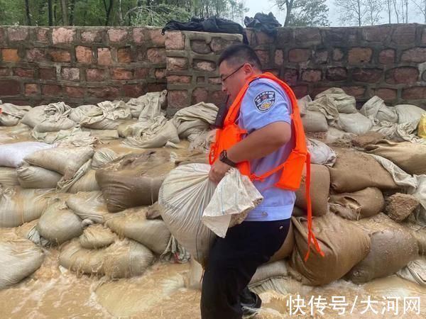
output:
[[[243, 101], [241, 101], [238, 125], [252, 133], [264, 126], [284, 121], [291, 124], [291, 103], [287, 94], [271, 79], [256, 79], [249, 85]], [[293, 136], [290, 141], [275, 152], [261, 159], [250, 162], [251, 172], [260, 176], [285, 162], [295, 146]], [[264, 181], [253, 181], [256, 189], [263, 195], [262, 203], [247, 216], [247, 221], [282, 220], [291, 217], [295, 204], [295, 192], [273, 186], [282, 171]]]

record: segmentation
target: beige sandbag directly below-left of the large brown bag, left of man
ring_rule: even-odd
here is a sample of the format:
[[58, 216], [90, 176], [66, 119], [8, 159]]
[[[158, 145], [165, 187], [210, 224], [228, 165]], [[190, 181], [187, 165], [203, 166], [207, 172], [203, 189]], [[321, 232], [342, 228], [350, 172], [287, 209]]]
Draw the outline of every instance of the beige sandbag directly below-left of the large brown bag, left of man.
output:
[[101, 191], [80, 191], [68, 197], [66, 203], [82, 220], [103, 224], [110, 217]]

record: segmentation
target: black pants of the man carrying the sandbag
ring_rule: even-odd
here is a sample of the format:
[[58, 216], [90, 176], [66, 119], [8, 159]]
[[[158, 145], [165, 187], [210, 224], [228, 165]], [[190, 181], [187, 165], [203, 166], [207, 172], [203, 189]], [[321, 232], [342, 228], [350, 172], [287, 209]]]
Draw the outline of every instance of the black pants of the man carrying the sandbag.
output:
[[245, 221], [218, 237], [209, 253], [202, 294], [202, 319], [242, 317], [240, 294], [256, 269], [280, 249], [287, 237], [290, 219]]

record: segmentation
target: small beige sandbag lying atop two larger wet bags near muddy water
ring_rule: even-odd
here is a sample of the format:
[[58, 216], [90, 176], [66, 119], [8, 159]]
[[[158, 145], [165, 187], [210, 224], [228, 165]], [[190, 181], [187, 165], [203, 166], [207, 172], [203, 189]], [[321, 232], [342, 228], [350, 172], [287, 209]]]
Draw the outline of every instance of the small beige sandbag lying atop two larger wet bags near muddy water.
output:
[[80, 235], [80, 245], [87, 250], [107, 247], [116, 240], [116, 235], [103, 225], [89, 225]]

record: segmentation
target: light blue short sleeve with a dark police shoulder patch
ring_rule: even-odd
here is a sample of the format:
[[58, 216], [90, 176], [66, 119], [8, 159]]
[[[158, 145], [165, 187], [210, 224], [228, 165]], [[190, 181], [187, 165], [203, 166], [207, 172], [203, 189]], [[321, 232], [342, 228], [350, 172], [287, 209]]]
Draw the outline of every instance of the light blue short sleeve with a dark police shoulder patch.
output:
[[241, 102], [240, 116], [244, 129], [249, 133], [274, 122], [290, 124], [290, 101], [282, 89], [256, 81], [246, 91]]

